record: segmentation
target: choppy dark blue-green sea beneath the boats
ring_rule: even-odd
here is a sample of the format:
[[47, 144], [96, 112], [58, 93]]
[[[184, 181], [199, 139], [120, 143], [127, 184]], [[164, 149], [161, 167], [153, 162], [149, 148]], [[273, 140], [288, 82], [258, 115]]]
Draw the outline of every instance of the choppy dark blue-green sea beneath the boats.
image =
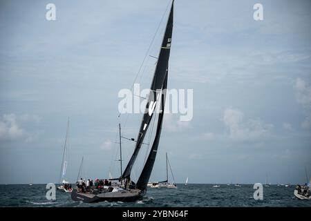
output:
[[263, 200], [254, 200], [253, 185], [178, 184], [178, 189], [148, 189], [136, 202], [87, 204], [71, 200], [70, 193], [56, 191], [56, 200], [46, 199], [46, 185], [0, 185], [0, 206], [311, 206], [311, 200], [294, 197], [294, 186], [263, 186]]

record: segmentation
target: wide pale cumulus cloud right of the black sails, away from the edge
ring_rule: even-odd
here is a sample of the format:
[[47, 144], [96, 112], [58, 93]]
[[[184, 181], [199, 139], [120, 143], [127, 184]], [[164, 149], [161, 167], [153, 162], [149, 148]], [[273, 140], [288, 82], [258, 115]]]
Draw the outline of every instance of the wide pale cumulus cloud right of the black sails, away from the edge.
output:
[[270, 135], [272, 124], [265, 124], [259, 119], [244, 119], [241, 111], [227, 108], [223, 114], [223, 123], [229, 138], [242, 142], [260, 142]]

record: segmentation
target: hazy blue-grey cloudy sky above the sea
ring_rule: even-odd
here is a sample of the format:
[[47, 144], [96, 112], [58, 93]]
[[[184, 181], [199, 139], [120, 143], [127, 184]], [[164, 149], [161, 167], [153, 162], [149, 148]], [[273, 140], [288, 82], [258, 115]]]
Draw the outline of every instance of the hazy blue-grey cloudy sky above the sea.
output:
[[[1, 1], [0, 184], [58, 182], [68, 117], [66, 180], [75, 182], [82, 156], [85, 177], [120, 175], [118, 124], [136, 137], [142, 115], [118, 117], [117, 95], [145, 55], [138, 81], [149, 88], [168, 4]], [[311, 176], [310, 21], [310, 1], [175, 1], [168, 88], [193, 89], [194, 116], [164, 116], [151, 181], [164, 180], [165, 153], [179, 183]], [[133, 148], [122, 140], [124, 165]]]

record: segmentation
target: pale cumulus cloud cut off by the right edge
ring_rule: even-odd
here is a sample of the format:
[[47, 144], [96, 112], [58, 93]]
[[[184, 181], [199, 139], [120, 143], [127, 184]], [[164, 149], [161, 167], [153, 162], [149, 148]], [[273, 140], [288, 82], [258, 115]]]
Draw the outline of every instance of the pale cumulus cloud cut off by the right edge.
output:
[[303, 128], [311, 128], [311, 86], [306, 84], [301, 78], [296, 79], [294, 86], [296, 90], [296, 100], [303, 107], [305, 120], [301, 123]]

